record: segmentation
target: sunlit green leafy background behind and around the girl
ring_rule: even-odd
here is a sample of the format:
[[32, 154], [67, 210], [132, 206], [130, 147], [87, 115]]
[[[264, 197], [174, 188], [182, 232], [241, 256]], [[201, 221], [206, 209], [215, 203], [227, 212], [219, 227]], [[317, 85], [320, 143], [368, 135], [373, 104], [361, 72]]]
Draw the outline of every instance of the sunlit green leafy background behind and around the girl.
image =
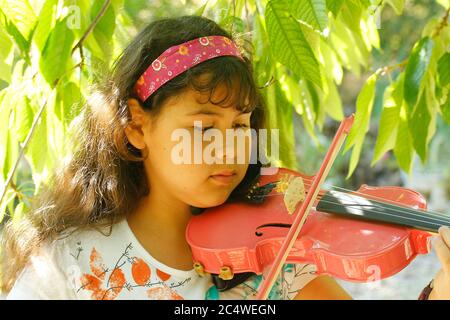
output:
[[89, 84], [172, 13], [251, 38], [268, 125], [282, 133], [278, 165], [314, 174], [355, 112], [327, 183], [414, 186], [448, 211], [449, 10], [449, 0], [0, 0], [0, 221], [26, 214], [70, 154]]

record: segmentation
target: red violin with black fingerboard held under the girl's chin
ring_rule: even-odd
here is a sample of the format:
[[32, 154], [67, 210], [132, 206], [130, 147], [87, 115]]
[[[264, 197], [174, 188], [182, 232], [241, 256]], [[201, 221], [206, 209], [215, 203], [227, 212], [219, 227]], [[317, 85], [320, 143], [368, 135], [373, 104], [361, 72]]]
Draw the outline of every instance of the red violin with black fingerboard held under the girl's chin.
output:
[[266, 274], [271, 267], [271, 280], [259, 289], [267, 297], [285, 262], [314, 264], [317, 274], [368, 282], [390, 277], [430, 252], [430, 237], [450, 226], [450, 217], [427, 211], [420, 193], [398, 186], [320, 188], [353, 118], [346, 121], [315, 176], [272, 168], [272, 174], [258, 176], [247, 195], [257, 203], [226, 203], [191, 218], [186, 239], [200, 275], [230, 280], [244, 272]]

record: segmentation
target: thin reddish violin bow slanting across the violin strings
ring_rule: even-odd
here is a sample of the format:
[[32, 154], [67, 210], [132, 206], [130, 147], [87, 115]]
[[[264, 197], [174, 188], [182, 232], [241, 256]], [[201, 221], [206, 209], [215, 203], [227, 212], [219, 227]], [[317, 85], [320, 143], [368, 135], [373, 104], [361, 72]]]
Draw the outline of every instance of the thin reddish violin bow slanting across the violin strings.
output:
[[325, 155], [325, 159], [323, 160], [318, 173], [312, 180], [311, 187], [308, 190], [308, 194], [306, 195], [305, 200], [297, 209], [297, 214], [295, 216], [294, 222], [292, 223], [289, 232], [275, 257], [270, 270], [265, 277], [263, 276], [263, 280], [258, 288], [258, 300], [266, 300], [269, 296], [270, 290], [273, 287], [278, 274], [280, 273], [281, 267], [286, 262], [288, 254], [291, 251], [295, 241], [297, 240], [300, 230], [305, 224], [306, 218], [308, 217], [309, 212], [311, 211], [311, 207], [316, 200], [317, 195], [319, 194], [323, 181], [327, 177], [328, 172], [330, 171], [331, 166], [333, 165], [333, 162], [336, 159], [337, 154], [342, 147], [342, 144], [344, 143], [345, 138], [350, 131], [350, 128], [353, 125], [353, 120], [354, 114], [345, 118], [341, 122], [339, 129], [336, 132], [333, 141], [331, 142], [331, 146], [328, 149], [327, 154]]

